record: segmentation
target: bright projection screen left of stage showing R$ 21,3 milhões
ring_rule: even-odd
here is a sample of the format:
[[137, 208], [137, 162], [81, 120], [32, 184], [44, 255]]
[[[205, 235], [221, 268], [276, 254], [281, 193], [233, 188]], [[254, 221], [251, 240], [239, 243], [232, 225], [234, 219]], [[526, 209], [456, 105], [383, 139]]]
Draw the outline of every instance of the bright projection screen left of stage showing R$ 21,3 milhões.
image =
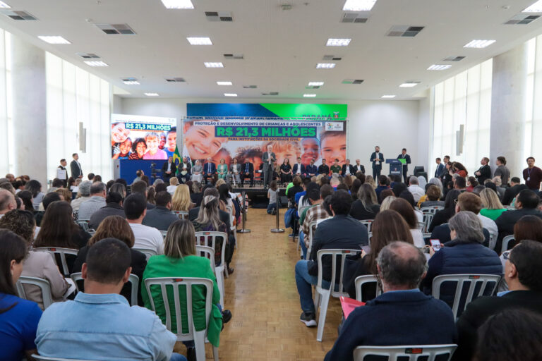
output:
[[112, 159], [166, 160], [177, 143], [176, 118], [111, 115]]

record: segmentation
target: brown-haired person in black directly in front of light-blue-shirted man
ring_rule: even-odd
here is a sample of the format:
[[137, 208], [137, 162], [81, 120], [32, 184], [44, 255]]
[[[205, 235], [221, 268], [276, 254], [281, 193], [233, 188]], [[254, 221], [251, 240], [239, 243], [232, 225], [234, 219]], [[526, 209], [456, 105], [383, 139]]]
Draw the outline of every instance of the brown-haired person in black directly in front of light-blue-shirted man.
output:
[[[81, 271], [81, 267], [83, 267], [83, 263], [85, 263], [85, 260], [87, 259], [87, 254], [90, 247], [92, 247], [92, 245], [97, 243], [99, 240], [103, 240], [105, 238], [116, 238], [126, 243], [126, 245], [130, 247], [130, 252], [132, 255], [132, 262], [130, 264], [130, 267], [132, 267], [131, 274], [138, 276], [141, 282], [141, 280], [143, 280], [143, 271], [145, 271], [145, 267], [147, 266], [147, 257], [145, 257], [143, 253], [133, 249], [134, 235], [132, 228], [126, 219], [121, 216], [108, 216], [102, 221], [96, 230], [96, 233], [92, 235], [92, 238], [90, 238], [88, 241], [88, 244], [79, 250], [76, 261], [73, 263], [72, 272]], [[141, 289], [141, 286], [142, 285], [140, 284], [139, 289]], [[84, 292], [83, 283], [78, 284], [78, 288], [81, 292]], [[121, 290], [121, 295], [123, 295], [130, 303], [132, 302], [131, 290], [131, 283], [129, 282], [126, 283]], [[140, 292], [138, 292], [138, 306], [143, 306], [143, 300], [141, 300]]]

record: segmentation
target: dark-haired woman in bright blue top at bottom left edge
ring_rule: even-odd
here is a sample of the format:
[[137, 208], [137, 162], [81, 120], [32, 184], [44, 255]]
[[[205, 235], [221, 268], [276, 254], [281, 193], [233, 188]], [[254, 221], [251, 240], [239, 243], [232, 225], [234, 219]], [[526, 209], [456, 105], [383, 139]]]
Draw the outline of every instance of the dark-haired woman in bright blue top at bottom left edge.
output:
[[42, 310], [36, 302], [17, 297], [28, 246], [23, 238], [0, 229], [0, 353], [2, 360], [21, 360], [36, 353], [37, 324]]

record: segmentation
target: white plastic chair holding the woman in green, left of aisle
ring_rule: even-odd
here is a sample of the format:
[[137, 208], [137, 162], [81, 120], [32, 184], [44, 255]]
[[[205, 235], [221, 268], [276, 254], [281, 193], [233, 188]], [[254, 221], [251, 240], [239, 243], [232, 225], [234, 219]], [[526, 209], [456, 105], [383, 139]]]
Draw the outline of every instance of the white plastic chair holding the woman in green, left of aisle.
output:
[[[177, 336], [177, 341], [194, 341], [195, 344], [195, 354], [196, 360], [205, 361], [205, 338], [207, 337], [207, 329], [209, 327], [209, 320], [211, 317], [212, 309], [212, 281], [210, 279], [200, 279], [192, 277], [183, 277], [183, 278], [172, 278], [172, 277], [162, 277], [162, 278], [153, 278], [145, 279], [145, 288], [150, 299], [150, 306], [152, 310], [156, 312], [155, 300], [152, 298], [152, 293], [150, 288], [152, 286], [159, 286], [162, 293], [162, 304], [164, 305], [164, 310], [166, 314], [166, 328], [173, 332]], [[181, 299], [179, 295], [179, 286], [186, 286], [186, 323], [188, 323], [188, 333], [183, 334], [182, 324], [183, 319], [181, 315]], [[204, 286], [206, 288], [205, 293], [205, 329], [201, 331], [196, 331], [193, 323], [193, 314], [192, 314], [192, 286]], [[176, 321], [176, 332], [171, 329], [171, 310], [169, 309], [169, 299], [167, 297], [167, 290], [169, 289], [170, 293], [173, 293], [173, 298], [175, 302], [175, 321]], [[215, 358], [215, 361], [218, 361], [218, 348], [212, 348], [212, 355]]]

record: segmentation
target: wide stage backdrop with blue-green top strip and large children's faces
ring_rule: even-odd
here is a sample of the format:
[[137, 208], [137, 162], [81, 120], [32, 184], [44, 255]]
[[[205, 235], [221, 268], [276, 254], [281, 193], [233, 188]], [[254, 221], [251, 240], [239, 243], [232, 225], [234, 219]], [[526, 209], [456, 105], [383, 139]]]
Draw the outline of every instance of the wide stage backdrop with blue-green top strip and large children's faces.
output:
[[[183, 157], [215, 164], [245, 159], [259, 169], [267, 145], [293, 166], [344, 164], [347, 154], [346, 104], [187, 104]], [[191, 118], [192, 117], [192, 118]], [[200, 117], [200, 118], [197, 118]], [[217, 119], [213, 119], [213, 118]], [[227, 117], [227, 118], [224, 118]]]

